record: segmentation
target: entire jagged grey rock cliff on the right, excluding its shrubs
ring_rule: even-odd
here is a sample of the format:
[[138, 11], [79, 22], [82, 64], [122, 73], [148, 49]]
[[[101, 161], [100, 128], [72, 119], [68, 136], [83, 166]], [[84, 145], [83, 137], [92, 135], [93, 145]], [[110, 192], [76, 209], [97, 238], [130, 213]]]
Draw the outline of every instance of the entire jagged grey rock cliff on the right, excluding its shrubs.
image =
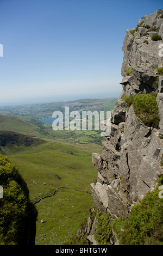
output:
[[[113, 218], [127, 218], [132, 205], [155, 188], [162, 173], [163, 76], [153, 69], [163, 65], [163, 45], [161, 40], [151, 39], [155, 33], [163, 39], [162, 17], [163, 10], [158, 9], [143, 17], [135, 32], [127, 30], [122, 47], [123, 90], [111, 112], [111, 133], [105, 137], [102, 154], [92, 154], [92, 163], [98, 169], [97, 182], [91, 184], [92, 199], [99, 211], [109, 212]], [[127, 108], [122, 100], [124, 95], [151, 92], [158, 93], [159, 129], [143, 124], [133, 106]]]

